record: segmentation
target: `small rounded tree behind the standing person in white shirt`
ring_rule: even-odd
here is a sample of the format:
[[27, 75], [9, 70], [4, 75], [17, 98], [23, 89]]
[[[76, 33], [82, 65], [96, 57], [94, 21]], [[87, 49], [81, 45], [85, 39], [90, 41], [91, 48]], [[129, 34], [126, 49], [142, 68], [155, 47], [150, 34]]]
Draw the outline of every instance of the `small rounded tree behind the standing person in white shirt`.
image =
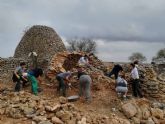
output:
[[138, 60], [139, 62], [144, 62], [146, 61], [146, 57], [142, 53], [132, 53], [132, 55], [128, 58], [130, 61], [135, 61]]

